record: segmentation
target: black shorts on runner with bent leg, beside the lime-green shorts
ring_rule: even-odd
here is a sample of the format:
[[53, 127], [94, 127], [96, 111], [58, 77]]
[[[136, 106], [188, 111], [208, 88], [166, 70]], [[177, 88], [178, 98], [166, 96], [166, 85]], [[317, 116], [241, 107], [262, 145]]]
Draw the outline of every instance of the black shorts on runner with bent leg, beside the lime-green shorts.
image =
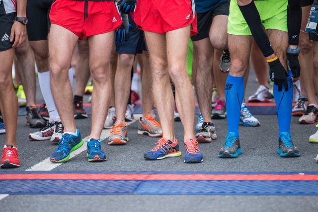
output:
[[209, 37], [212, 20], [217, 15], [229, 15], [230, 1], [224, 1], [207, 12], [197, 13], [198, 34], [191, 36], [192, 41]]

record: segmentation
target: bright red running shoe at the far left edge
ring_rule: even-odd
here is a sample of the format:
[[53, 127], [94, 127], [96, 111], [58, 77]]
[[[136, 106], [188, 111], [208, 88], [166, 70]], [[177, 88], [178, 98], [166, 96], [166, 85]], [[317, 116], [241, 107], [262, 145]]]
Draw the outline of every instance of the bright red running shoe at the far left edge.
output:
[[4, 145], [1, 157], [1, 168], [14, 168], [20, 166], [18, 149], [11, 145]]

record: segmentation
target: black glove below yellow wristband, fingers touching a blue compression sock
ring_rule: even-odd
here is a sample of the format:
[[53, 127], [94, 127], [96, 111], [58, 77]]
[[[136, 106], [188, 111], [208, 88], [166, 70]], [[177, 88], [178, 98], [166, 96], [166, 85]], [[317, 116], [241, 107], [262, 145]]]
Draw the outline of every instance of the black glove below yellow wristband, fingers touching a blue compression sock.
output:
[[274, 84], [278, 85], [278, 91], [281, 91], [283, 88], [283, 84], [285, 90], [288, 91], [288, 83], [286, 77], [288, 76], [284, 67], [279, 61], [279, 58], [276, 60], [269, 62], [269, 78], [274, 82]]

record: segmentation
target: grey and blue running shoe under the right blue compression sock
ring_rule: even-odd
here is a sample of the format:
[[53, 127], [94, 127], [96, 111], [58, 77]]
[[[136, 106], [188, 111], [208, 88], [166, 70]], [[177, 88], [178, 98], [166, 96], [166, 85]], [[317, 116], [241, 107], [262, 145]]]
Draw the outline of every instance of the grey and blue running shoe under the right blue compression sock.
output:
[[287, 132], [281, 132], [278, 139], [277, 153], [281, 157], [297, 157], [300, 152], [296, 146], [293, 145], [292, 137]]

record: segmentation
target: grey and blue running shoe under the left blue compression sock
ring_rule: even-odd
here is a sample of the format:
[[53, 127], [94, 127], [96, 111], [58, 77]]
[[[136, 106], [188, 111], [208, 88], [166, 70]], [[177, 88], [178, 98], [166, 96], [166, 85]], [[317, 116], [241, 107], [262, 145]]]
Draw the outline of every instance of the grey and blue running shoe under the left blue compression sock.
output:
[[243, 153], [240, 148], [239, 138], [236, 133], [228, 133], [227, 140], [224, 142], [223, 147], [219, 151], [219, 157], [238, 157]]

